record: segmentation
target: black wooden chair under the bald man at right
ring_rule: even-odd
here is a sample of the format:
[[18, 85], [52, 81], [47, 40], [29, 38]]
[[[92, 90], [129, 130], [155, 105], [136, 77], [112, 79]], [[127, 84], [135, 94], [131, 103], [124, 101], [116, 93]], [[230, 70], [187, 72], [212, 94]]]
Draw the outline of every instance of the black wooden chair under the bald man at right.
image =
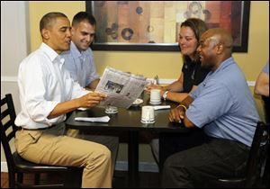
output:
[[[251, 188], [261, 187], [261, 171], [266, 169], [266, 158], [268, 155], [269, 123], [258, 122], [257, 129], [252, 141], [247, 159], [245, 175], [238, 178], [220, 178], [216, 185], [225, 188]], [[264, 144], [261, 146], [261, 144]], [[265, 166], [264, 166], [265, 165]], [[268, 181], [269, 182], [269, 181]], [[216, 187], [216, 186], [215, 186]]]

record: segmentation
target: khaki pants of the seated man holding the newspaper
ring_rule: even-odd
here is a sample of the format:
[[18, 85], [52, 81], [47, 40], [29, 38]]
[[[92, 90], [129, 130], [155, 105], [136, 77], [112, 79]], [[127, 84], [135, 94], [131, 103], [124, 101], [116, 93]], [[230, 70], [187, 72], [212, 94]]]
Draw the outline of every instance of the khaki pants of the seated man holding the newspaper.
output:
[[63, 135], [64, 125], [49, 130], [18, 130], [15, 147], [25, 159], [54, 166], [84, 166], [82, 187], [112, 187], [111, 152], [101, 144]]

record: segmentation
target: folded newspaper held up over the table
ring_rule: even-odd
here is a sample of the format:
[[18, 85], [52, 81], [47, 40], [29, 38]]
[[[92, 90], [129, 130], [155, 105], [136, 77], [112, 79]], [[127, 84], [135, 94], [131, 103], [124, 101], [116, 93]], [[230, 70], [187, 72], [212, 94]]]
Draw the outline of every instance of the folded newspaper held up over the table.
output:
[[106, 67], [95, 92], [107, 94], [101, 105], [129, 108], [148, 85], [147, 78]]

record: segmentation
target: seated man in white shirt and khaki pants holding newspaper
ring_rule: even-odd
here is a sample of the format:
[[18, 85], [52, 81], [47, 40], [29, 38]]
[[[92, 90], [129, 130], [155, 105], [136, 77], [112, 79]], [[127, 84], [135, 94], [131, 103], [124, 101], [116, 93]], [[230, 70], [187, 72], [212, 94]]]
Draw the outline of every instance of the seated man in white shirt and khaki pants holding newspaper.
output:
[[89, 93], [63, 69], [69, 49], [70, 23], [65, 14], [40, 20], [40, 49], [23, 59], [18, 73], [22, 111], [15, 124], [15, 147], [23, 158], [55, 166], [83, 166], [82, 187], [112, 187], [111, 153], [105, 146], [65, 134], [65, 113], [94, 107], [104, 94]]

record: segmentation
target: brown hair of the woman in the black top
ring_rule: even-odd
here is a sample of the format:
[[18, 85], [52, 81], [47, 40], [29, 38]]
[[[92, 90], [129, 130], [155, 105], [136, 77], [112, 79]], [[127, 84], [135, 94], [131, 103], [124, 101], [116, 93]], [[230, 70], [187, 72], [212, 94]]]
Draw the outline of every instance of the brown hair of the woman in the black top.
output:
[[[207, 31], [208, 30], [208, 27], [207, 27], [206, 23], [204, 23], [199, 18], [189, 18], [189, 19], [185, 20], [184, 23], [181, 23], [181, 26], [180, 27], [182, 28], [183, 26], [184, 27], [189, 27], [190, 29], [192, 29], [192, 31], [195, 34], [195, 38], [198, 41], [198, 46], [199, 46], [202, 33], [204, 31]], [[189, 58], [189, 57], [188, 56], [184, 56], [184, 60], [186, 60], [187, 58]], [[195, 58], [195, 61], [198, 61], [199, 56], [198, 56], [197, 52], [195, 52], [194, 58]]]

